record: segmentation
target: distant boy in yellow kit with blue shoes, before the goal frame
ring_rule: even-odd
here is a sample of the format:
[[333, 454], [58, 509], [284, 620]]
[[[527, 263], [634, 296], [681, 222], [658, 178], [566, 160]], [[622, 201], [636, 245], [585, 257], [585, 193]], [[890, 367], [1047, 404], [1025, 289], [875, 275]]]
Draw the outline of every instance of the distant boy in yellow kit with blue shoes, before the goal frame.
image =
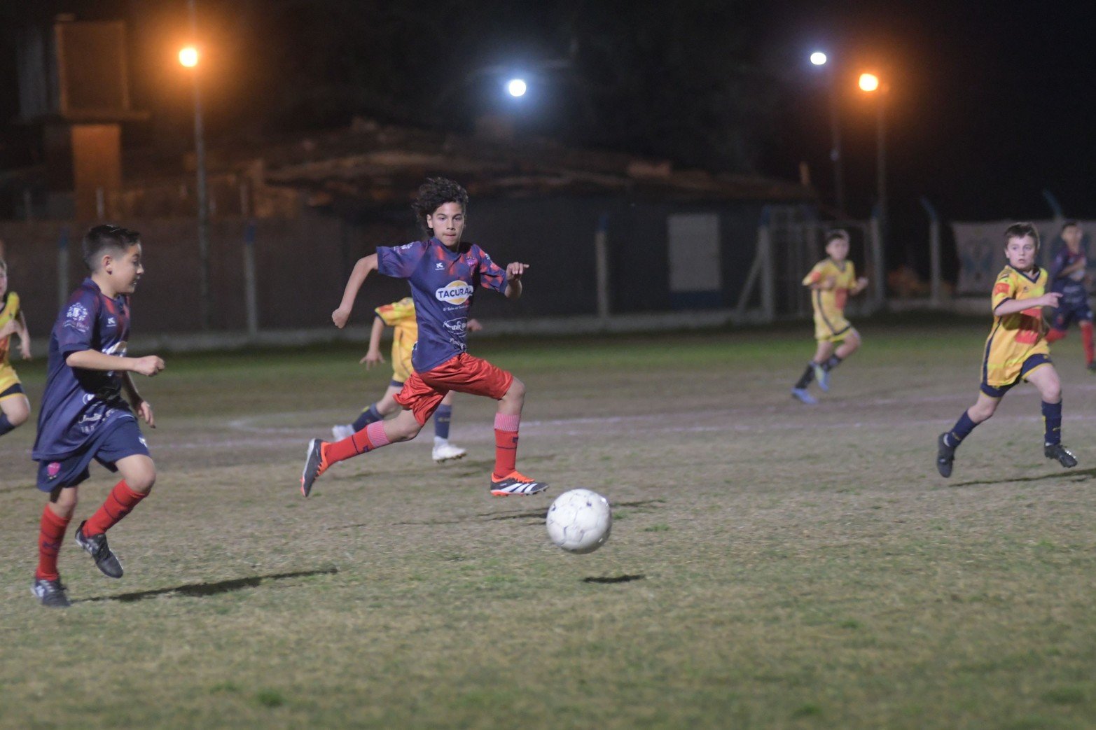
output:
[[[791, 397], [808, 404], [817, 403], [807, 388], [817, 379], [823, 392], [830, 390], [830, 370], [860, 346], [860, 334], [845, 319], [845, 303], [868, 286], [868, 280], [856, 277], [856, 267], [848, 260], [848, 233], [831, 230], [825, 235], [827, 258], [814, 264], [803, 278], [811, 289], [814, 306], [814, 339], [818, 349], [807, 369], [791, 388]], [[838, 344], [840, 343], [840, 344]]]

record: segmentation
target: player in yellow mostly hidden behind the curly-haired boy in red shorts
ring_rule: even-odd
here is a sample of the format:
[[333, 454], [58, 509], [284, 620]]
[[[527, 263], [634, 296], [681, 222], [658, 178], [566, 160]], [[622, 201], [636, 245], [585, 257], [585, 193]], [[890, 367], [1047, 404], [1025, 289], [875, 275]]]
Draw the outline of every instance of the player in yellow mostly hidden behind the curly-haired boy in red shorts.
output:
[[[385, 362], [385, 357], [380, 354], [380, 334], [385, 331], [385, 327], [392, 328], [392, 379], [388, 384], [388, 390], [385, 391], [384, 397], [363, 410], [354, 423], [331, 427], [331, 435], [336, 441], [346, 438], [370, 423], [399, 411], [400, 404], [396, 402], [396, 393], [403, 388], [403, 384], [414, 372], [411, 366], [411, 352], [414, 350], [414, 343], [419, 341], [419, 323], [414, 317], [414, 300], [411, 297], [404, 297], [399, 301], [377, 307], [374, 311], [377, 316], [373, 320], [373, 330], [369, 332], [369, 350], [359, 362], [364, 363], [367, 368]], [[478, 321], [468, 320], [469, 331], [476, 332], [481, 329], [483, 328]], [[450, 390], [442, 399], [442, 404], [434, 413], [434, 449], [432, 454], [437, 463], [459, 459], [467, 454], [465, 449], [449, 442], [453, 393], [454, 391]]]

